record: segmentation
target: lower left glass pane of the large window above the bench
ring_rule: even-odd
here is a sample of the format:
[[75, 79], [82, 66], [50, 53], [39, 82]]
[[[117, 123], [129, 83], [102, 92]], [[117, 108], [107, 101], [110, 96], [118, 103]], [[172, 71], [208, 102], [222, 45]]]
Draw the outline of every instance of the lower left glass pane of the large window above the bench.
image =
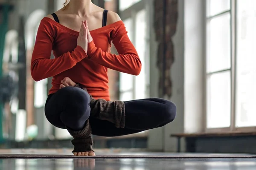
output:
[[230, 71], [207, 79], [207, 128], [230, 127]]

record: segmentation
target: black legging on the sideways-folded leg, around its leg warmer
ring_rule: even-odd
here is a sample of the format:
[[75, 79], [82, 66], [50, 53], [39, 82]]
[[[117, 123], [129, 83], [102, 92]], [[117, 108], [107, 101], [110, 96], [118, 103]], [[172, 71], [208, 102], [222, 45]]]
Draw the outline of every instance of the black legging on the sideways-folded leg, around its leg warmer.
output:
[[90, 118], [92, 134], [97, 136], [123, 136], [161, 127], [172, 122], [176, 115], [174, 103], [160, 98], [125, 101], [125, 128], [111, 122]]

